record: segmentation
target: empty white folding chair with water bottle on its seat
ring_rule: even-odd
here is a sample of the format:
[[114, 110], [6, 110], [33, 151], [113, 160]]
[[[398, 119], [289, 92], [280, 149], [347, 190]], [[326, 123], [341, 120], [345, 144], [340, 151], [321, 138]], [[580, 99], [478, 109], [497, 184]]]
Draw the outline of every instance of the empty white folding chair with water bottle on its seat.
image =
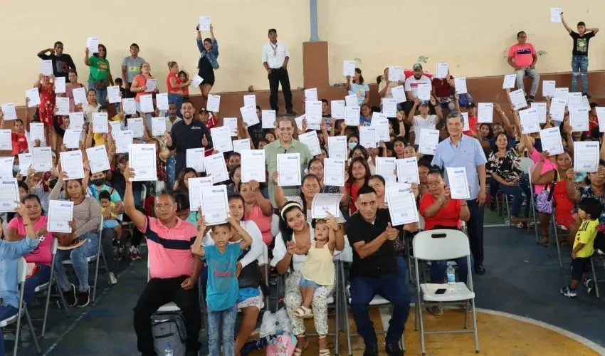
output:
[[[436, 294], [439, 288], [448, 288], [443, 283], [420, 283], [418, 261], [443, 261], [466, 257], [468, 266], [468, 285], [464, 282], [456, 283], [455, 291], [446, 291]], [[473, 333], [475, 335], [475, 352], [479, 352], [479, 338], [477, 335], [477, 315], [475, 314], [475, 292], [473, 291], [473, 274], [470, 273], [470, 245], [468, 237], [458, 230], [430, 230], [423, 231], [414, 238], [414, 264], [416, 266], [416, 320], [420, 323], [420, 341], [422, 355], [426, 355], [424, 335], [447, 333]], [[464, 329], [446, 331], [425, 331], [422, 320], [422, 310], [425, 302], [439, 304], [465, 305], [470, 307], [473, 314], [473, 330], [468, 328], [468, 313], [464, 313]]]

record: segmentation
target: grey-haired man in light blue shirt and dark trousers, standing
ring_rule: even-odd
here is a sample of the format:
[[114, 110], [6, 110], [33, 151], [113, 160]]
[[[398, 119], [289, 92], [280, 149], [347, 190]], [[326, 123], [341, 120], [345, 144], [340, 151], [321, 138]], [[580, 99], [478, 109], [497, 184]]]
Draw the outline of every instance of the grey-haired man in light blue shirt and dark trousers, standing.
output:
[[[483, 268], [483, 204], [485, 204], [485, 153], [479, 141], [462, 134], [464, 118], [458, 112], [451, 112], [446, 120], [450, 137], [439, 143], [431, 164], [441, 169], [465, 167], [470, 186], [470, 210], [468, 238], [470, 251], [475, 261], [475, 273], [485, 273]], [[446, 175], [447, 179], [447, 175]]]

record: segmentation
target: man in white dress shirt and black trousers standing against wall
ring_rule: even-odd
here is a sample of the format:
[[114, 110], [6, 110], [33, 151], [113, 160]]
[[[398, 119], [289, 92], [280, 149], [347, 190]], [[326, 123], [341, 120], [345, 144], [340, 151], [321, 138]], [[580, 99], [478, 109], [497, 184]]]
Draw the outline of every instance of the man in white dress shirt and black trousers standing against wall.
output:
[[292, 92], [290, 92], [290, 78], [288, 78], [288, 47], [278, 41], [278, 31], [269, 29], [269, 42], [263, 46], [263, 66], [267, 70], [271, 95], [269, 103], [271, 109], [278, 112], [278, 88], [281, 83], [285, 111], [288, 115], [296, 115], [292, 110]]

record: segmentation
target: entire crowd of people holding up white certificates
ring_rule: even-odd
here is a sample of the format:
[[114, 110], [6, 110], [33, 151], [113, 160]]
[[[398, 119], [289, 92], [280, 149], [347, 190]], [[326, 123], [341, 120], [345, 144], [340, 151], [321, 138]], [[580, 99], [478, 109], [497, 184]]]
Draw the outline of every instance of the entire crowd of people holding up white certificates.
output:
[[[577, 32], [563, 21], [573, 38], [573, 85], [569, 92], [577, 91], [577, 78], [582, 78], [582, 93], [587, 93], [588, 42], [598, 28], [586, 28], [580, 22]], [[540, 74], [537, 72], [537, 53], [527, 35], [520, 32], [518, 43], [510, 48], [508, 63], [515, 68], [517, 88], [524, 90], [523, 78], [533, 79], [529, 92], [523, 91], [527, 105], [536, 100]], [[372, 106], [369, 85], [362, 70], [345, 78], [342, 97], [354, 95], [348, 106], [357, 107], [359, 122], [347, 125], [344, 117], [332, 117], [329, 100], [321, 99], [322, 121], [315, 130], [307, 128], [311, 122], [304, 115], [294, 119], [292, 95], [288, 79], [288, 48], [277, 39], [277, 31], [268, 31], [268, 42], [263, 46], [262, 61], [270, 83], [270, 109], [278, 112], [278, 85], [281, 83], [285, 99], [285, 115], [277, 115], [273, 128], [263, 128], [263, 110], [256, 107], [258, 123], [248, 126], [238, 117], [240, 130], [233, 140], [248, 139], [251, 150], [263, 150], [265, 179], [243, 179], [241, 152], [219, 152], [211, 129], [224, 125], [220, 112], [206, 110], [209, 95], [215, 83], [215, 70], [219, 70], [219, 44], [210, 27], [210, 37], [202, 38], [197, 31], [200, 56], [197, 73], [190, 75], [177, 62], [168, 63], [166, 78], [167, 110], [154, 108], [143, 112], [143, 95], [160, 93], [159, 88], [147, 88], [151, 65], [139, 56], [136, 43], [130, 46], [130, 56], [122, 61], [121, 78], [113, 78], [107, 61], [107, 48], [100, 44], [98, 52], [85, 51], [85, 65], [90, 69], [88, 85], [78, 82], [78, 72], [72, 58], [63, 52], [63, 43], [38, 53], [43, 60], [53, 63], [52, 75], [39, 75], [34, 88], [38, 88], [40, 105], [27, 108], [26, 117], [14, 120], [11, 128], [14, 156], [12, 177], [19, 187], [19, 204], [16, 210], [3, 216], [0, 229], [0, 319], [14, 315], [18, 308], [16, 259], [24, 256], [31, 264], [32, 276], [26, 281], [25, 300], [33, 303], [33, 290], [48, 282], [51, 270], [51, 246], [58, 239], [62, 246], [57, 253], [55, 273], [70, 307], [85, 307], [90, 303], [88, 262], [86, 258], [98, 253], [100, 243], [108, 263], [110, 283], [118, 283], [115, 263], [123, 258], [136, 261], [141, 258], [139, 246], [147, 240], [149, 281], [134, 309], [134, 327], [137, 346], [142, 355], [155, 355], [151, 330], [151, 317], [157, 309], [174, 302], [183, 311], [184, 324], [189, 338], [187, 355], [197, 355], [198, 335], [201, 329], [199, 290], [206, 303], [210, 355], [241, 355], [250, 337], [259, 313], [265, 307], [265, 271], [259, 266], [270, 265], [269, 273], [285, 275], [284, 304], [297, 338], [294, 355], [302, 355], [309, 345], [305, 337], [305, 318], [313, 318], [319, 334], [320, 355], [330, 355], [327, 300], [335, 290], [333, 256], [345, 248], [352, 248], [353, 259], [349, 266], [349, 294], [354, 322], [365, 343], [364, 355], [377, 355], [377, 336], [369, 318], [368, 306], [374, 295], [382, 295], [394, 305], [386, 334], [386, 353], [403, 355], [400, 339], [409, 315], [409, 292], [406, 285], [406, 241], [411, 242], [421, 230], [463, 229], [468, 231], [473, 266], [465, 258], [458, 258], [458, 277], [465, 281], [468, 273], [485, 273], [483, 230], [485, 206], [497, 209], [496, 197], [512, 197], [510, 221], [512, 228], [524, 228], [532, 222], [530, 211], [540, 214], [542, 246], [549, 244], [549, 223], [569, 231], [572, 244], [572, 281], [560, 293], [573, 298], [580, 282], [594, 287], [586, 266], [596, 249], [605, 251], [605, 145], [599, 150], [598, 167], [585, 172], [574, 167], [574, 142], [601, 142], [596, 104], [585, 108], [588, 115], [587, 130], [574, 130], [567, 105], [564, 116], [556, 120], [550, 114], [553, 98], [547, 96], [545, 122], [541, 130], [558, 127], [562, 150], [551, 154], [543, 149], [539, 130], [526, 133], [525, 121], [519, 114], [525, 108], [510, 103], [494, 104], [500, 120], [478, 122], [478, 107], [469, 93], [458, 93], [456, 78], [448, 73], [444, 78], [426, 73], [422, 63], [401, 73], [392, 80], [389, 68], [377, 78], [381, 105]], [[155, 64], [154, 64], [155, 66]], [[80, 73], [82, 70], [80, 69]], [[202, 80], [197, 86], [203, 97], [202, 107], [196, 108], [189, 99], [189, 88], [194, 76]], [[216, 75], [220, 78], [219, 75]], [[67, 78], [65, 94], [56, 93], [57, 78]], [[134, 98], [136, 112], [127, 114], [123, 102], [108, 103], [107, 88], [119, 86], [121, 98]], [[421, 100], [420, 88], [430, 85], [430, 98]], [[74, 90], [84, 88], [86, 102], [77, 103]], [[87, 89], [88, 88], [88, 89]], [[362, 130], [379, 127], [377, 115], [386, 111], [384, 100], [399, 98], [394, 115], [386, 115], [388, 138], [362, 145]], [[510, 89], [506, 90], [510, 93]], [[73, 129], [69, 115], [58, 115], [56, 98], [69, 98], [70, 112], [83, 112], [84, 122], [78, 148], [68, 148], [63, 138], [66, 130]], [[561, 98], [560, 96], [557, 98]], [[339, 98], [340, 99], [340, 98]], [[310, 100], [310, 99], [307, 99]], [[376, 101], [376, 100], [374, 100]], [[27, 103], [26, 103], [27, 104]], [[110, 117], [107, 132], [95, 132], [95, 113], [107, 112], [115, 105], [117, 112]], [[584, 105], [584, 103], [582, 103]], [[26, 105], [29, 106], [29, 105]], [[508, 109], [510, 108], [510, 109]], [[142, 137], [130, 145], [151, 143], [156, 147], [157, 180], [141, 182], [135, 179], [135, 169], [129, 164], [129, 155], [118, 153], [117, 131], [129, 130], [131, 121], [142, 117]], [[165, 117], [166, 127], [161, 134], [152, 130], [152, 118]], [[355, 119], [356, 120], [356, 119]], [[8, 121], [0, 112], [0, 128]], [[31, 137], [30, 127], [41, 122], [43, 137]], [[73, 123], [73, 122], [72, 122]], [[438, 145], [432, 150], [423, 131], [438, 132]], [[317, 134], [318, 152], [298, 140], [308, 132]], [[424, 132], [426, 133], [426, 132]], [[330, 157], [332, 137], [345, 137], [346, 157], [342, 172], [343, 184], [327, 184], [326, 160]], [[425, 140], [425, 142], [423, 142]], [[52, 167], [37, 172], [23, 167], [20, 159], [31, 153], [32, 147], [51, 147]], [[105, 147], [110, 169], [91, 173], [92, 162], [87, 150]], [[192, 167], [188, 150], [204, 148], [198, 155], [223, 155], [228, 179], [228, 219], [223, 224], [209, 226], [201, 210], [191, 206], [197, 199], [192, 179], [208, 177], [203, 167]], [[70, 179], [61, 167], [58, 157], [63, 152], [78, 150], [83, 154], [83, 179]], [[281, 185], [279, 155], [298, 154], [300, 185]], [[520, 162], [527, 155], [534, 162], [525, 172]], [[418, 181], [409, 183], [414, 194], [419, 221], [393, 226], [386, 196], [396, 182], [389, 169], [384, 169], [385, 158], [395, 160], [414, 158], [417, 162]], [[468, 199], [453, 199], [448, 184], [448, 168], [465, 169], [468, 180]], [[393, 169], [396, 170], [395, 166]], [[386, 172], [386, 173], [385, 173]], [[210, 176], [213, 178], [214, 177]], [[133, 179], [135, 179], [133, 181]], [[246, 182], [244, 182], [246, 180]], [[259, 182], [261, 181], [261, 182]], [[199, 186], [196, 186], [199, 187]], [[147, 192], [145, 195], [144, 192]], [[341, 194], [337, 214], [312, 219], [313, 201], [317, 194]], [[196, 197], [192, 197], [195, 195]], [[532, 206], [531, 196], [537, 207]], [[73, 202], [73, 219], [68, 221], [69, 233], [51, 233], [47, 217], [51, 201]], [[525, 209], [524, 209], [525, 203]], [[522, 211], [523, 210], [523, 211]], [[553, 214], [554, 213], [554, 214]], [[279, 221], [279, 233], [272, 231], [274, 219]], [[102, 234], [99, 235], [102, 221]], [[130, 225], [129, 225], [130, 223]], [[129, 226], [132, 226], [130, 232]], [[99, 241], [98, 239], [101, 239]], [[128, 242], [130, 240], [130, 242]], [[268, 251], [265, 256], [263, 250]], [[61, 261], [72, 261], [75, 280], [70, 280]], [[445, 281], [447, 261], [431, 264], [431, 281]], [[235, 330], [236, 314], [242, 313], [242, 323]], [[443, 313], [440, 305], [429, 308], [433, 314]], [[466, 313], [465, 308], [463, 312]], [[0, 333], [1, 335], [1, 333]], [[0, 343], [0, 355], [4, 355]]]

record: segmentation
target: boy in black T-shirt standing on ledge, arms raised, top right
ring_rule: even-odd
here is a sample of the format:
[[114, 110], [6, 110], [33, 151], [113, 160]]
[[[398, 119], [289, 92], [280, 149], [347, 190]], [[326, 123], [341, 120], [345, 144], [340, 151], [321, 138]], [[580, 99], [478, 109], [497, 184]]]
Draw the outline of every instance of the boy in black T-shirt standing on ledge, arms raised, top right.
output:
[[582, 77], [582, 95], [590, 98], [588, 95], [588, 42], [599, 32], [599, 28], [586, 28], [586, 23], [578, 22], [578, 31], [574, 32], [572, 28], [567, 26], [567, 22], [563, 19], [561, 13], [561, 22], [569, 36], [574, 39], [574, 47], [572, 48], [572, 91], [577, 90], [578, 76]]

